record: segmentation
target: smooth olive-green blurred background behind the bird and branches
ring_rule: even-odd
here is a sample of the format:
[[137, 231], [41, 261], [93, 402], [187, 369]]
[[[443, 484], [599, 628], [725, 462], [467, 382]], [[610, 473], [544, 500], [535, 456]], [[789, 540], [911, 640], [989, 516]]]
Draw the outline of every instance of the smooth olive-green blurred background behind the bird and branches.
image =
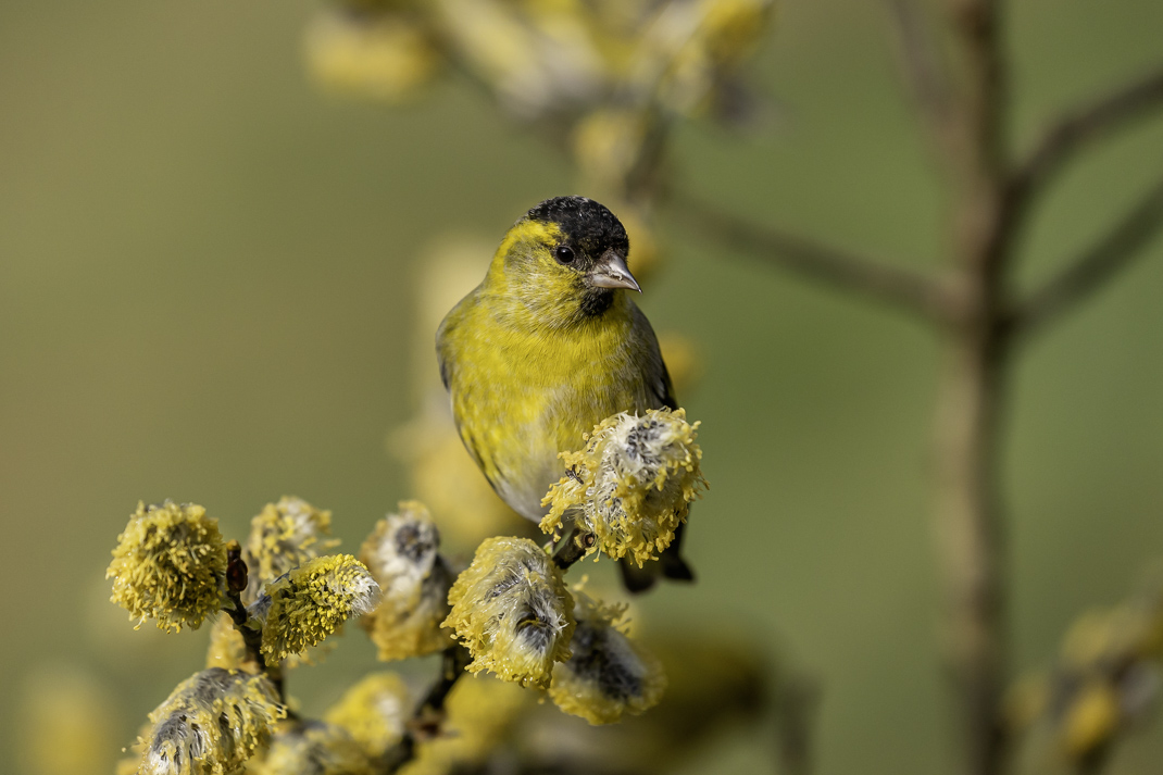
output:
[[[1008, 6], [1022, 148], [1056, 109], [1163, 57], [1157, 0]], [[455, 79], [402, 108], [316, 92], [301, 62], [314, 8], [0, 5], [0, 770], [21, 767], [28, 698], [53, 681], [106, 711], [97, 773], [200, 664], [205, 631], [134, 632], [107, 602], [137, 499], [205, 504], [240, 535], [295, 493], [334, 511], [351, 550], [409, 495], [385, 436], [413, 410], [418, 258], [445, 234], [497, 240], [571, 189], [563, 161]], [[936, 266], [941, 182], [894, 66], [880, 3], [786, 0], [756, 63], [776, 121], [684, 129], [682, 185]], [[1072, 166], [1022, 282], [1161, 170], [1160, 121]], [[701, 348], [684, 403], [713, 489], [688, 536], [699, 584], [657, 592], [644, 618], [750, 627], [812, 674], [821, 774], [944, 769], [933, 336], [662, 227], [669, 265], [642, 305]], [[1163, 244], [1149, 253], [1022, 354], [1005, 447], [1019, 668], [1163, 556]], [[299, 694], [309, 710], [371, 664], [355, 632]], [[756, 772], [762, 734], [736, 737], [691, 772]], [[1111, 772], [1161, 755], [1154, 728]]]

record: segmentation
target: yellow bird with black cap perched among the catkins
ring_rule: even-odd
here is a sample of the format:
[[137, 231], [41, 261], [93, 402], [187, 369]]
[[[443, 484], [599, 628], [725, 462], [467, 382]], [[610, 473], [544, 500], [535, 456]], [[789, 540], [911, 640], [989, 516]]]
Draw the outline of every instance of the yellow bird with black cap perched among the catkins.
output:
[[[629, 249], [606, 206], [547, 199], [508, 229], [484, 280], [437, 329], [461, 440], [501, 499], [533, 521], [564, 474], [558, 453], [579, 449], [613, 414], [678, 408], [658, 339], [629, 296], [642, 290]], [[623, 559], [627, 588], [648, 589], [659, 570], [692, 580], [680, 538], [647, 569]]]

